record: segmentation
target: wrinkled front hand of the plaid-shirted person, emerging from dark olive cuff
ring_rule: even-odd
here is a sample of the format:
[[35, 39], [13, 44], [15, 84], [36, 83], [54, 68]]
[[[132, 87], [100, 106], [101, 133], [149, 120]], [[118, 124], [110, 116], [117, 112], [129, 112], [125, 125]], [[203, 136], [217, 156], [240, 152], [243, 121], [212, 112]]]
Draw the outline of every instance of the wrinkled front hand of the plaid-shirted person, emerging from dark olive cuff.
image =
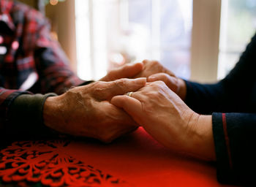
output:
[[64, 134], [110, 142], [138, 125], [109, 100], [137, 91], [145, 84], [145, 78], [98, 81], [72, 88], [61, 96], [48, 97], [43, 110], [45, 125]]

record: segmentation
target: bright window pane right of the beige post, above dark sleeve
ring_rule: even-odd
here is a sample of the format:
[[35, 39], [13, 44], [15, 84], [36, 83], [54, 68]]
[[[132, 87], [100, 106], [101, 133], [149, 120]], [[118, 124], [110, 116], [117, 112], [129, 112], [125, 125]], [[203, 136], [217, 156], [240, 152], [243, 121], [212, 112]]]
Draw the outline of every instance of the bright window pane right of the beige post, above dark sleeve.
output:
[[238, 61], [256, 28], [255, 0], [222, 0], [218, 78]]

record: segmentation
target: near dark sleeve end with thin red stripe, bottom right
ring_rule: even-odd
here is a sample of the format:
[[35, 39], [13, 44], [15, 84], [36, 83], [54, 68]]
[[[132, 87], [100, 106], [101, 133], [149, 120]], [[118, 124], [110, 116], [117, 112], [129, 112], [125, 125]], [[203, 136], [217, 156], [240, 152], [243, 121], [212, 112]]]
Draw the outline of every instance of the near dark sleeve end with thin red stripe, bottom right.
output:
[[255, 186], [256, 114], [213, 113], [217, 179], [220, 183]]

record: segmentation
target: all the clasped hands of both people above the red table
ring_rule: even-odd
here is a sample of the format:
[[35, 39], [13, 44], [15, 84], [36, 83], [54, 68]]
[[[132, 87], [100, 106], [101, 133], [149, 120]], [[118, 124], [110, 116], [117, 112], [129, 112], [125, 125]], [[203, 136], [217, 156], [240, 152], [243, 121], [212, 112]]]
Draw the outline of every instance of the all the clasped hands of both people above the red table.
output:
[[[146, 77], [148, 83], [146, 78], [124, 77]], [[132, 96], [124, 95], [130, 91]], [[45, 124], [65, 134], [103, 142], [143, 126], [167, 148], [214, 160], [211, 115], [191, 110], [183, 101], [186, 91], [184, 81], [159, 62], [143, 61], [113, 70], [101, 81], [49, 97]]]

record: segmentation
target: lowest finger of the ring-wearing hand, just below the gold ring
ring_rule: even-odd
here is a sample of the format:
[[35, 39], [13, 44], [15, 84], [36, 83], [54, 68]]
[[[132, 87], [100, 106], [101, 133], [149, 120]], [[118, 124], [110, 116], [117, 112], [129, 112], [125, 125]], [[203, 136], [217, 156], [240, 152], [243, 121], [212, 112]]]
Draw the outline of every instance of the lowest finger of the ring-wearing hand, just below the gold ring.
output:
[[142, 124], [142, 105], [138, 99], [131, 96], [114, 96], [110, 103], [126, 111], [136, 123]]

